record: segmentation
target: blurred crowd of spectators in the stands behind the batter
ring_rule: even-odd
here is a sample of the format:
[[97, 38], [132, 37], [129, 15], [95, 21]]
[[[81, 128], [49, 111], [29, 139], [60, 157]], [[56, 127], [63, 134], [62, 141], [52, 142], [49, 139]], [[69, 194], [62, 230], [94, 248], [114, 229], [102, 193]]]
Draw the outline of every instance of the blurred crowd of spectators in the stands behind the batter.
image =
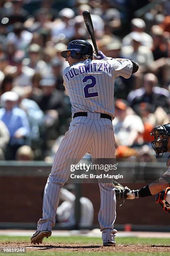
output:
[[150, 131], [170, 122], [169, 0], [0, 0], [0, 160], [52, 161], [71, 120], [60, 56], [75, 39], [140, 65], [115, 81], [116, 156], [154, 157]]

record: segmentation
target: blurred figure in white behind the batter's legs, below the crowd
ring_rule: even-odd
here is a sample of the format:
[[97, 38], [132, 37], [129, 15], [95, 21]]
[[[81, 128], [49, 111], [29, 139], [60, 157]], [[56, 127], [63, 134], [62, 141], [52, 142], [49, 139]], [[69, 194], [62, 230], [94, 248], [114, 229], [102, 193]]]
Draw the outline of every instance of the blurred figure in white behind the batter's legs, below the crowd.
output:
[[[56, 221], [65, 226], [74, 226], [75, 220], [75, 195], [62, 188], [60, 191], [62, 203], [57, 208]], [[92, 202], [87, 197], [80, 197], [80, 227], [91, 227], [93, 223], [94, 209]]]

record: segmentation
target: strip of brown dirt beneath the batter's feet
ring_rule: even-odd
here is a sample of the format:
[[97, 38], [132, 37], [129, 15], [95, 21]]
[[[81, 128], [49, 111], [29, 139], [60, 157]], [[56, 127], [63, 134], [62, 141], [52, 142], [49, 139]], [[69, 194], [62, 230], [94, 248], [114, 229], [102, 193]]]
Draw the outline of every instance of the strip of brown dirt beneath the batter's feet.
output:
[[32, 245], [30, 243], [0, 243], [0, 247], [25, 247], [27, 251], [112, 251], [112, 252], [168, 252], [170, 246], [155, 245], [117, 245], [115, 247], [103, 247], [101, 245], [44, 243]]

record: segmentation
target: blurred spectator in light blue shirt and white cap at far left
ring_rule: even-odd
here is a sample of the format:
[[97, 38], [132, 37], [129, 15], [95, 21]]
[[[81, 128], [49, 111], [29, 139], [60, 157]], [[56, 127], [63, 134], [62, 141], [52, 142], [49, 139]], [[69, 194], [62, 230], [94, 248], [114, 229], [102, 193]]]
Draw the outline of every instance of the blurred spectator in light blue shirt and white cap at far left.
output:
[[10, 133], [5, 159], [13, 160], [17, 149], [28, 143], [30, 126], [25, 111], [16, 107], [18, 95], [15, 92], [3, 93], [0, 100], [0, 120], [5, 123]]

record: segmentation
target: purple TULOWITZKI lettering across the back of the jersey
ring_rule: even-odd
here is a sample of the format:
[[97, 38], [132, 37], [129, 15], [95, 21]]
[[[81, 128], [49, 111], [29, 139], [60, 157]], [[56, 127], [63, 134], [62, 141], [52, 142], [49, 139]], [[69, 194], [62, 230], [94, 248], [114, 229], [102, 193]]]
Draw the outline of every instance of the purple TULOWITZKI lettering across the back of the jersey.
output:
[[85, 73], [94, 73], [94, 72], [107, 72], [110, 73], [111, 66], [108, 63], [92, 63], [87, 65], [81, 65], [76, 70], [75, 68], [70, 68], [69, 71], [65, 74], [65, 77], [68, 81], [73, 77], [85, 74]]

